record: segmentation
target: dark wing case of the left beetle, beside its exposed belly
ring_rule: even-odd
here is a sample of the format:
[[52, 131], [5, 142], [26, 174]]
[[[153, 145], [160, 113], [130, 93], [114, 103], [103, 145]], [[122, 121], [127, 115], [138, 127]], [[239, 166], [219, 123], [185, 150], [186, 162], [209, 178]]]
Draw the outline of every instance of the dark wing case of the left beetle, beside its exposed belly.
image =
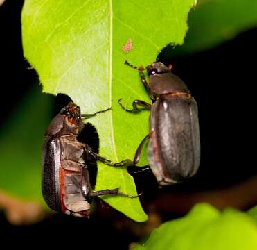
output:
[[50, 208], [61, 211], [60, 206], [60, 140], [46, 138], [42, 157], [42, 193]]

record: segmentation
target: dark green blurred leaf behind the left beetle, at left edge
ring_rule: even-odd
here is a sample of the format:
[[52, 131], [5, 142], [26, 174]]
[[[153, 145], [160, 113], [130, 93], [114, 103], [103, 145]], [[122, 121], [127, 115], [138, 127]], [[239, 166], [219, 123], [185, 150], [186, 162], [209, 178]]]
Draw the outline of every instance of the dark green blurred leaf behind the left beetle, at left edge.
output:
[[44, 203], [41, 153], [52, 100], [36, 86], [1, 126], [0, 188], [24, 200]]

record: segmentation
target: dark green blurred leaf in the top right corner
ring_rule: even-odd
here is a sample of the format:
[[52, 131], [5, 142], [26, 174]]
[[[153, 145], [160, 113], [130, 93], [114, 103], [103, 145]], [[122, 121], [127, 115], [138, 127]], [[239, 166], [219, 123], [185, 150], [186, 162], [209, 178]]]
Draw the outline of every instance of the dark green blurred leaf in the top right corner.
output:
[[183, 47], [172, 55], [210, 49], [257, 26], [257, 1], [202, 0], [188, 16], [190, 27]]

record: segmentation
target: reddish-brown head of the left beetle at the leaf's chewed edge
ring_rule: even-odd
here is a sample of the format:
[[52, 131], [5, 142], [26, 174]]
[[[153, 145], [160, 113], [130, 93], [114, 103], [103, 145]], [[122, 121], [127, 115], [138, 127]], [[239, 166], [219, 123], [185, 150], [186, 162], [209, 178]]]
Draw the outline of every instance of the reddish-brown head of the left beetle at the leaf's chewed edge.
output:
[[75, 103], [70, 102], [67, 106], [62, 108], [60, 115], [65, 115], [64, 123], [67, 125], [68, 131], [78, 134], [82, 131], [84, 123], [81, 119], [80, 107]]

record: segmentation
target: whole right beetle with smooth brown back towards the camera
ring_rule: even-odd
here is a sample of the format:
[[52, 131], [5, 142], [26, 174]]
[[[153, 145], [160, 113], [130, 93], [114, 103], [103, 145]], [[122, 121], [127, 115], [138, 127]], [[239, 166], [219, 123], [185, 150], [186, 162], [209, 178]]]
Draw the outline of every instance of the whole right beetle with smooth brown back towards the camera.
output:
[[[148, 143], [150, 169], [159, 185], [171, 185], [193, 176], [200, 165], [200, 132], [198, 108], [188, 87], [178, 76], [172, 74], [172, 66], [155, 62], [147, 67], [135, 67], [152, 104], [141, 100], [132, 102], [132, 109], [118, 103], [123, 110], [139, 113], [143, 107], [150, 110], [150, 133], [143, 138], [134, 156], [134, 165], [145, 142]], [[150, 83], [143, 71], [146, 69]]]

